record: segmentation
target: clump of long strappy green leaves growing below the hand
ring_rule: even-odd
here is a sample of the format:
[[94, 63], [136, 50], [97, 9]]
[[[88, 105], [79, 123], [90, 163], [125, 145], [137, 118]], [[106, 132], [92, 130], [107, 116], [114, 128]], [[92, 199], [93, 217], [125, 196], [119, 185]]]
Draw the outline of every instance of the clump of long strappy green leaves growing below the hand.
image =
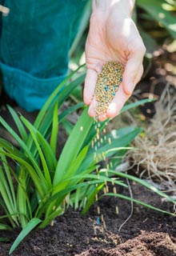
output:
[[[62, 153], [59, 158], [56, 156], [58, 124], [82, 104], [73, 106], [61, 114], [58, 114], [58, 106], [62, 106], [71, 91], [84, 80], [84, 77], [84, 74], [78, 75], [77, 71], [70, 74], [51, 94], [39, 112], [34, 125], [22, 116], [18, 118], [14, 110], [9, 107], [10, 114], [18, 126], [19, 135], [0, 117], [2, 126], [10, 132], [20, 146], [17, 149], [10, 142], [0, 138], [2, 162], [0, 205], [5, 212], [0, 217], [0, 229], [12, 230], [15, 226], [22, 227], [22, 232], [14, 241], [10, 254], [36, 226], [43, 228], [59, 214], [63, 214], [70, 195], [72, 202], [74, 200], [74, 205], [83, 202], [85, 197], [87, 198], [86, 204], [82, 205], [84, 206], [83, 213], [85, 213], [94, 203], [94, 194], [98, 193], [106, 182], [113, 181], [118, 186], [126, 186], [118, 178], [122, 174], [112, 177], [112, 174], [116, 174], [113, 170], [108, 172], [110, 174], [108, 176], [105, 175], [105, 170], [94, 172], [98, 166], [98, 163], [94, 161], [94, 150], [90, 146], [95, 136], [94, 120], [88, 116], [84, 106], [77, 124], [71, 129]], [[72, 82], [69, 82], [70, 78]], [[66, 82], [69, 82], [69, 85], [66, 86]], [[132, 103], [125, 106], [123, 110], [144, 102], [146, 100]], [[100, 130], [104, 126], [105, 123], [102, 123]], [[105, 152], [106, 156], [110, 157], [121, 152], [122, 156], [127, 150], [126, 146], [140, 131], [140, 128], [134, 127], [117, 130], [118, 136], [114, 138], [112, 144], [102, 144], [98, 153]], [[9, 158], [16, 163], [17, 170], [12, 170], [9, 166]], [[138, 182], [141, 181], [138, 179]], [[143, 185], [148, 186], [145, 182]], [[84, 193], [80, 193], [82, 191]], [[160, 191], [155, 191], [161, 194]], [[161, 195], [167, 197], [166, 194]], [[171, 198], [167, 198], [173, 202]]]

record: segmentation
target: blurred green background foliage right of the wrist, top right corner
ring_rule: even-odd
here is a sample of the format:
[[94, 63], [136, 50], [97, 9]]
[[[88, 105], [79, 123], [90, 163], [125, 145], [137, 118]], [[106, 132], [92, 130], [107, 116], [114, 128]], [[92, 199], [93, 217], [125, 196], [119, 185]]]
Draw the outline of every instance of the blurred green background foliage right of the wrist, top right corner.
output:
[[134, 19], [146, 45], [146, 54], [153, 54], [158, 43], [176, 38], [176, 2], [174, 0], [137, 0]]

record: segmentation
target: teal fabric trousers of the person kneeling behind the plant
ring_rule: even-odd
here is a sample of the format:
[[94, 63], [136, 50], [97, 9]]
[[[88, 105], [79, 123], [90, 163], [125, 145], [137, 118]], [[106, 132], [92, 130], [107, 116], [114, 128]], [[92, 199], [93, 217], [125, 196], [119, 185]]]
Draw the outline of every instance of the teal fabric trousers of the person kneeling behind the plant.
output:
[[87, 0], [0, 0], [0, 68], [10, 98], [39, 110], [66, 77], [68, 53]]

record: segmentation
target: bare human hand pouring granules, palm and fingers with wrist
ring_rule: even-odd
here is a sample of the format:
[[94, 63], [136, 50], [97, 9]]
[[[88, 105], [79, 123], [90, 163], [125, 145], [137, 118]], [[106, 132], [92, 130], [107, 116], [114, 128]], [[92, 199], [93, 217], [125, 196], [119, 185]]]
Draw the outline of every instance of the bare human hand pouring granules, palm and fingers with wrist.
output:
[[131, 0], [93, 1], [90, 31], [86, 40], [86, 80], [84, 102], [89, 105], [90, 117], [96, 114], [94, 89], [102, 65], [109, 61], [121, 62], [124, 67], [122, 83], [105, 114], [99, 121], [114, 118], [132, 94], [143, 73], [142, 60], [146, 48], [138, 29], [130, 17]]

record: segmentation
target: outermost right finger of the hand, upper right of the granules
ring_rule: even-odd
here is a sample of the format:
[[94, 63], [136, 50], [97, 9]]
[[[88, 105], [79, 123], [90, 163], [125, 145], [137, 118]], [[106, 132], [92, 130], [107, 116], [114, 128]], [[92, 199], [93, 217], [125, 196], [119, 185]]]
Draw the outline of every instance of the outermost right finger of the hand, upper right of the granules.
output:
[[134, 87], [136, 86], [136, 78], [138, 77], [139, 80], [141, 78], [139, 77], [138, 71], [141, 69], [145, 51], [146, 48], [143, 45], [136, 47], [136, 50], [131, 51], [130, 57], [126, 62], [126, 67], [122, 79], [122, 85], [126, 94], [132, 94]]

